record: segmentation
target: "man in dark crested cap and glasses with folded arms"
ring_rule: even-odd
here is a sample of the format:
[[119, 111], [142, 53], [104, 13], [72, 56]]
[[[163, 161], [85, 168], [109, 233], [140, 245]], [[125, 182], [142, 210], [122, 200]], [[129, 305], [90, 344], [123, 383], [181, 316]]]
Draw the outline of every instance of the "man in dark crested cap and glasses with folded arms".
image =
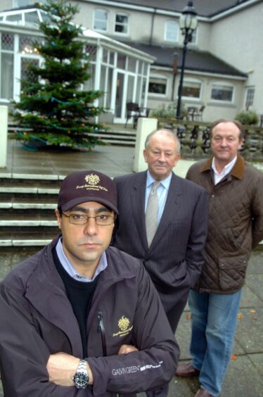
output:
[[108, 247], [114, 182], [68, 175], [61, 234], [0, 284], [5, 397], [117, 396], [167, 384], [179, 348], [140, 261]]

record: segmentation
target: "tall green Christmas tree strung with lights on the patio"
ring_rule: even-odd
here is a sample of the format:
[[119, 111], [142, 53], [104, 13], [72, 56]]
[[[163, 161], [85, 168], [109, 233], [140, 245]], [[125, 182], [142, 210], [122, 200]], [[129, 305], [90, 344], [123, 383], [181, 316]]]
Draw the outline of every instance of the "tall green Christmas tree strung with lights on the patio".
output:
[[102, 128], [94, 123], [94, 117], [103, 109], [94, 106], [94, 101], [103, 93], [81, 90], [90, 75], [89, 57], [79, 39], [82, 27], [72, 23], [77, 6], [66, 0], [47, 0], [41, 9], [46, 11], [49, 22], [39, 24], [44, 40], [34, 46], [44, 62], [28, 63], [30, 73], [21, 82], [20, 101], [13, 101], [14, 120], [30, 130], [14, 132], [13, 138], [91, 149], [101, 144], [89, 132]]

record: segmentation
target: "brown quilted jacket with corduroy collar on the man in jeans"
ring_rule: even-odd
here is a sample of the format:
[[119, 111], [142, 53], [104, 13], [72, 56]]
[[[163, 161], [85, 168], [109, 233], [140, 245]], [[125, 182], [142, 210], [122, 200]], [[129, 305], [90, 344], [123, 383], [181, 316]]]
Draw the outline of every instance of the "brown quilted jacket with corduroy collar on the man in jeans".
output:
[[186, 178], [209, 196], [205, 264], [200, 292], [232, 294], [245, 282], [252, 248], [263, 238], [263, 173], [238, 156], [233, 169], [214, 185], [212, 158], [191, 166]]

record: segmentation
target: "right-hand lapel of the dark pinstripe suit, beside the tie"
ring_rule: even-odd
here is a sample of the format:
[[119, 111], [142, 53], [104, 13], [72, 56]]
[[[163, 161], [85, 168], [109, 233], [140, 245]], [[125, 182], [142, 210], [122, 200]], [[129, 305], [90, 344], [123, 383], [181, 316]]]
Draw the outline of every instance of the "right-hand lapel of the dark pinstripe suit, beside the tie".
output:
[[172, 179], [167, 194], [165, 208], [163, 210], [157, 232], [155, 233], [155, 237], [153, 237], [152, 244], [150, 245], [150, 249], [154, 248], [156, 244], [158, 244], [160, 238], [164, 236], [169, 223], [177, 217], [177, 213], [182, 202], [181, 194], [181, 180], [179, 177], [177, 177], [177, 175], [172, 173]]

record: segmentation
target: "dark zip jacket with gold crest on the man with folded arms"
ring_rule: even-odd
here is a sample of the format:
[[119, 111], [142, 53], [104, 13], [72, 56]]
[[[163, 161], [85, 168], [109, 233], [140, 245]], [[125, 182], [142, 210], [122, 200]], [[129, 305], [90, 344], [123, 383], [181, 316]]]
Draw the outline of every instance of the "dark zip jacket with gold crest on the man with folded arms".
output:
[[[57, 239], [18, 265], [0, 285], [0, 362], [5, 397], [116, 396], [167, 384], [179, 348], [143, 266], [116, 248], [106, 250], [87, 319], [94, 386], [77, 390], [49, 382], [46, 363], [60, 351], [82, 357], [82, 340], [53, 263]], [[117, 355], [122, 344], [138, 352]]]

